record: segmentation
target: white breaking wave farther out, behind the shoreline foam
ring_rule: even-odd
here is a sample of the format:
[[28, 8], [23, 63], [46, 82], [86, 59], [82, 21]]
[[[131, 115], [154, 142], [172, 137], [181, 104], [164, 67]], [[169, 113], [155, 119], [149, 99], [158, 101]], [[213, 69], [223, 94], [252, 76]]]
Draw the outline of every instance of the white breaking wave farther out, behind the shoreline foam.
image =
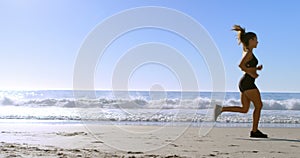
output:
[[[0, 99], [2, 106], [27, 107], [63, 107], [63, 108], [128, 108], [128, 109], [210, 109], [212, 100], [207, 97], [195, 99], [160, 99], [148, 100], [144, 98], [130, 99]], [[239, 99], [229, 98], [223, 101], [223, 106], [241, 106]], [[253, 108], [253, 106], [251, 106]], [[263, 100], [264, 110], [300, 110], [300, 99]]]

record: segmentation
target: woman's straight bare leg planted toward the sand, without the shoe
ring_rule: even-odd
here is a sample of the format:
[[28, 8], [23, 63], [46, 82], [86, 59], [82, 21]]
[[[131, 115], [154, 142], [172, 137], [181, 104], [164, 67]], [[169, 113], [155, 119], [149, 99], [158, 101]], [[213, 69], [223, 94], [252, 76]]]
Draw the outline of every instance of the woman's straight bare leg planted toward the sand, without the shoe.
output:
[[249, 98], [249, 100], [252, 101], [254, 104], [252, 131], [256, 132], [258, 129], [260, 112], [263, 106], [260, 97], [260, 92], [258, 89], [250, 89], [245, 91], [244, 93], [247, 95], [247, 98]]

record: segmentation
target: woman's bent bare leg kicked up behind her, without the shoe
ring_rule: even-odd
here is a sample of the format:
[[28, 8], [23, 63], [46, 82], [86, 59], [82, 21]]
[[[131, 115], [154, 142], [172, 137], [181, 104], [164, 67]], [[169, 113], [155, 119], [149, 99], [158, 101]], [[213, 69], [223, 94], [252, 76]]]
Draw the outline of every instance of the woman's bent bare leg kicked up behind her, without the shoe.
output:
[[240, 112], [247, 113], [250, 107], [250, 99], [245, 92], [241, 93], [242, 107], [240, 106], [227, 106], [222, 108], [222, 112]]

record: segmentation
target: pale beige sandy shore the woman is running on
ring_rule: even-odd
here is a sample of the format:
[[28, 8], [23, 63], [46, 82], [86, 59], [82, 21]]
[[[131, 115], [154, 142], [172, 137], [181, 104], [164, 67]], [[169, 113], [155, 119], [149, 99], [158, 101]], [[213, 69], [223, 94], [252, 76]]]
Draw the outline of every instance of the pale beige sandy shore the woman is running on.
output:
[[299, 128], [212, 128], [206, 136], [186, 126], [1, 123], [0, 157], [297, 158]]

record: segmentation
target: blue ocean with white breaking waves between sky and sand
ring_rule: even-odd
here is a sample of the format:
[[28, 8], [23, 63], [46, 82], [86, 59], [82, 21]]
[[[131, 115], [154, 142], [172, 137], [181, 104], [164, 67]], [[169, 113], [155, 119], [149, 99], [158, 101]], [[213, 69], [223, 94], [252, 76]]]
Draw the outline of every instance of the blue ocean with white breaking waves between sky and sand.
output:
[[[98, 123], [251, 127], [247, 114], [223, 113], [212, 121], [215, 102], [240, 106], [240, 93], [150, 91], [0, 91], [0, 123]], [[300, 127], [300, 93], [262, 93], [260, 126]]]

